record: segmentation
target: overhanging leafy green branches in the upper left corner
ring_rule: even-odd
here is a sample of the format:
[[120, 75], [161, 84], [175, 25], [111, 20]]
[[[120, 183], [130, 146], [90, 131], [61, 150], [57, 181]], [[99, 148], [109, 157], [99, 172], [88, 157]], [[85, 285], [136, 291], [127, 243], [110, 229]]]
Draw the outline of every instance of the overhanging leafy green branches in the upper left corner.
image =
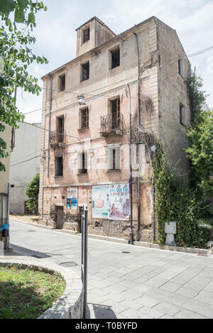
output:
[[[28, 65], [34, 61], [48, 63], [45, 57], [36, 56], [31, 50], [35, 37], [31, 36], [29, 28], [33, 31], [35, 13], [47, 10], [42, 1], [31, 0], [4, 0], [0, 2], [0, 132], [4, 131], [4, 124], [18, 128], [18, 122], [24, 116], [15, 106], [14, 92], [16, 87], [23, 88], [26, 92], [39, 94], [41, 89], [38, 80], [28, 74]], [[11, 14], [14, 13], [14, 21]], [[16, 23], [23, 23], [17, 28]], [[2, 124], [4, 123], [4, 124]], [[0, 138], [0, 158], [7, 157], [6, 142]], [[5, 166], [0, 162], [0, 171], [5, 171]]]

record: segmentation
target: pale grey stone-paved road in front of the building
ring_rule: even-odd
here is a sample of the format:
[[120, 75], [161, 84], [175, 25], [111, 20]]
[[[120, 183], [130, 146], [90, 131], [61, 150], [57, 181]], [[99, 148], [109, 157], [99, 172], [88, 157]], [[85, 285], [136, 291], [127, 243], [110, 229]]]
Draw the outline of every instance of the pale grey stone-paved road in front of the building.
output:
[[[11, 247], [80, 272], [81, 238], [11, 220]], [[88, 318], [213, 318], [213, 257], [88, 240]]]

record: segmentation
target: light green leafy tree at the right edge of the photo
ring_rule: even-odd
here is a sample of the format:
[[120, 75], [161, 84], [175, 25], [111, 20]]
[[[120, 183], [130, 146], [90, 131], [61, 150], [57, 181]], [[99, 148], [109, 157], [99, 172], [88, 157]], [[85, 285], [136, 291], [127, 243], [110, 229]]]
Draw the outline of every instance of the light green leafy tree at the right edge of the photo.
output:
[[190, 158], [195, 185], [207, 197], [213, 195], [213, 110], [204, 110], [187, 130], [190, 146], [185, 149]]

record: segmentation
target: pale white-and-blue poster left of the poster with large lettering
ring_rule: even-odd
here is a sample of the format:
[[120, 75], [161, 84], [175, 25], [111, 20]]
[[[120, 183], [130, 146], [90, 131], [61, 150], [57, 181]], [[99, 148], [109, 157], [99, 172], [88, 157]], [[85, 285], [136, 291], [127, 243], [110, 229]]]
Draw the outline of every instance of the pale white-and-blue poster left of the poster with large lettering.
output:
[[92, 187], [92, 218], [109, 219], [109, 186]]

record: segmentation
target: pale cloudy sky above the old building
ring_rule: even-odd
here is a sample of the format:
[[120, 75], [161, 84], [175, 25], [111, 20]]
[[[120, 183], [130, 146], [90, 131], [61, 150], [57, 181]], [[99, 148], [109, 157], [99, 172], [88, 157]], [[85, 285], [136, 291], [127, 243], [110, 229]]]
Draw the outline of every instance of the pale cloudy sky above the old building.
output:
[[[43, 0], [48, 11], [36, 16], [33, 30], [36, 55], [48, 58], [48, 65], [35, 62], [28, 72], [40, 77], [76, 57], [75, 29], [93, 16], [100, 18], [114, 33], [119, 34], [151, 16], [156, 16], [178, 33], [187, 55], [213, 45], [213, 0]], [[204, 90], [213, 107], [213, 49], [190, 58], [192, 68], [204, 80]], [[18, 89], [17, 107], [22, 113], [41, 108], [40, 96]], [[40, 122], [41, 111], [26, 115], [25, 121]]]

